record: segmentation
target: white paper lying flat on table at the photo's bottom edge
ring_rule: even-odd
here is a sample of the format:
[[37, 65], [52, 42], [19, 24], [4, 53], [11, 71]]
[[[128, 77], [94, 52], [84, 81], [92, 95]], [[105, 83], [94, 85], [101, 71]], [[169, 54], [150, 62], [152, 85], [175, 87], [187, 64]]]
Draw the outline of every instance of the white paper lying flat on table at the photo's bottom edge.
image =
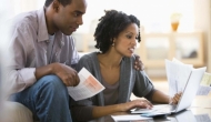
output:
[[134, 121], [134, 120], [151, 120], [152, 118], [144, 118], [141, 115], [111, 115], [111, 118], [117, 121]]

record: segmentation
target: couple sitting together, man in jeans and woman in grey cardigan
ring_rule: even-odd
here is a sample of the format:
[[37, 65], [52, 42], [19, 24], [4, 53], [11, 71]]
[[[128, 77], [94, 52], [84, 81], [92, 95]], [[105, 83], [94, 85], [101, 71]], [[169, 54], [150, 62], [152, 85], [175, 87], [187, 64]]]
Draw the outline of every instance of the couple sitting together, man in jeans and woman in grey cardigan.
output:
[[[94, 32], [100, 51], [79, 58], [71, 34], [83, 23], [86, 9], [86, 0], [46, 0], [43, 9], [14, 18], [10, 100], [29, 108], [41, 122], [88, 121], [133, 108], [151, 108], [151, 102], [177, 103], [180, 94], [169, 98], [154, 89], [144, 71], [133, 68], [141, 64], [134, 64], [133, 52], [141, 41], [140, 22], [134, 16], [105, 11]], [[77, 71], [83, 67], [105, 90], [76, 102], [67, 87], [78, 85]], [[131, 93], [149, 101], [130, 101]]]

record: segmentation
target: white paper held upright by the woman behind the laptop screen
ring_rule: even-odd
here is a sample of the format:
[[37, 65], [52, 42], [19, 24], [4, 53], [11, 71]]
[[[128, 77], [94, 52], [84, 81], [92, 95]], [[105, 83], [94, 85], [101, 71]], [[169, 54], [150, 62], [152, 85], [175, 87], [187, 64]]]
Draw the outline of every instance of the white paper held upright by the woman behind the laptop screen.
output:
[[174, 96], [184, 90], [193, 67], [184, 64], [173, 58], [173, 61], [165, 59], [167, 79], [169, 82], [169, 95]]

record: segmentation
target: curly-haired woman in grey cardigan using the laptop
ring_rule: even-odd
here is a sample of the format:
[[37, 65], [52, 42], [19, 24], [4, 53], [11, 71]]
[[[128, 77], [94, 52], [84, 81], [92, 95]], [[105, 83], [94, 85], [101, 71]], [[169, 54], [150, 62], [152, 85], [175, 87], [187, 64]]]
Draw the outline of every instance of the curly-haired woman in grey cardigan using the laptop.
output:
[[[94, 39], [100, 52], [83, 55], [78, 63], [78, 71], [84, 67], [105, 90], [90, 99], [74, 102], [74, 119], [88, 121], [134, 108], [152, 108], [151, 102], [177, 103], [180, 94], [170, 99], [154, 89], [144, 71], [133, 69], [133, 52], [141, 41], [139, 20], [134, 16], [110, 10], [99, 21]], [[130, 101], [131, 93], [147, 100]]]

